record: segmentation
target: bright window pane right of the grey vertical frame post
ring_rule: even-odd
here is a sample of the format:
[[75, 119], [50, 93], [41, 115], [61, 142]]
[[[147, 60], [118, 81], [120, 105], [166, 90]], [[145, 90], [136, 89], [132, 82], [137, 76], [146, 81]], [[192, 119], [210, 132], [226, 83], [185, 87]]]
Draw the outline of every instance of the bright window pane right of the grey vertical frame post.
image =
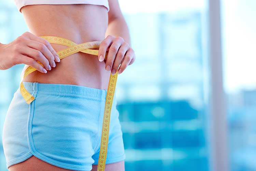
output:
[[256, 1], [223, 0], [230, 169], [256, 170]]

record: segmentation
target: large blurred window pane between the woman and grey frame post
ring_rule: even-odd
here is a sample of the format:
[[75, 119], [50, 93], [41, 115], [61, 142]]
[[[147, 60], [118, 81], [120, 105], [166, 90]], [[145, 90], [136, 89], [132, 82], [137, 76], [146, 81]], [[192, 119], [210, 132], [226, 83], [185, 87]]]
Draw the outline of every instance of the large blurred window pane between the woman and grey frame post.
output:
[[137, 55], [116, 91], [126, 170], [207, 171], [204, 1], [119, 2]]

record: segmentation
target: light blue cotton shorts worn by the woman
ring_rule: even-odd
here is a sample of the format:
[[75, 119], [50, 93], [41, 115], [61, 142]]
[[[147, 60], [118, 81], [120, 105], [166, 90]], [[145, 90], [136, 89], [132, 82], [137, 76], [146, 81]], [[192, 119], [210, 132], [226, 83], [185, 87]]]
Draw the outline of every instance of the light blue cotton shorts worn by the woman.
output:
[[[106, 90], [67, 84], [23, 82], [35, 100], [18, 89], [3, 127], [6, 167], [35, 156], [52, 165], [89, 171], [98, 164]], [[106, 164], [125, 159], [114, 95]]]

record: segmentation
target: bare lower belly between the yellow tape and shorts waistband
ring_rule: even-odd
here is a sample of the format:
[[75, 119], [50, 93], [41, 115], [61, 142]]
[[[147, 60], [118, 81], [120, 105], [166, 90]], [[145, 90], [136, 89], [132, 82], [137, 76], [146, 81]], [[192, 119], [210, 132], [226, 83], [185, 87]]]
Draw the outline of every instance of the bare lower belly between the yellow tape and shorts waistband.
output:
[[[25, 71], [27, 66], [24, 67]], [[56, 62], [56, 67], [46, 74], [34, 71], [26, 76], [25, 82], [48, 84], [72, 84], [98, 89], [107, 89], [110, 72], [105, 63], [95, 55], [76, 53]]]

